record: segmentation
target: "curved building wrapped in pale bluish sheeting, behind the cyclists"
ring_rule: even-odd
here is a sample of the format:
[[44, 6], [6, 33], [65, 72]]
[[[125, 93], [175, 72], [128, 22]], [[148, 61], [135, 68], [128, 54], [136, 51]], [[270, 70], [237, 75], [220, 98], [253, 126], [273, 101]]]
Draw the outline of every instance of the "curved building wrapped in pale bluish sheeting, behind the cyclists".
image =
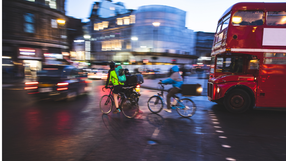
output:
[[132, 37], [135, 52], [192, 54], [193, 30], [185, 27], [186, 12], [164, 5], [147, 5], [135, 12]]

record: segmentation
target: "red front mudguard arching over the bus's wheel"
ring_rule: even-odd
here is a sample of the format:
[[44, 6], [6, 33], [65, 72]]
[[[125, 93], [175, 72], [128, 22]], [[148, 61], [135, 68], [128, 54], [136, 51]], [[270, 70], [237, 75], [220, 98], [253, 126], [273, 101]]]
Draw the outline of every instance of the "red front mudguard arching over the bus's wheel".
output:
[[[219, 94], [217, 94], [217, 91], [215, 91], [216, 92], [215, 99], [220, 99], [220, 98], [224, 97], [226, 91], [230, 87], [233, 87], [235, 85], [244, 85], [244, 86], [249, 87], [252, 90], [252, 92], [254, 93], [255, 97], [256, 97], [256, 93], [257, 93], [257, 83], [256, 82], [226, 82], [226, 83], [221, 83], [221, 84], [216, 84], [216, 85], [221, 87], [222, 90]], [[250, 98], [252, 98], [252, 95], [250, 95]], [[255, 102], [255, 100], [254, 100], [254, 102]]]

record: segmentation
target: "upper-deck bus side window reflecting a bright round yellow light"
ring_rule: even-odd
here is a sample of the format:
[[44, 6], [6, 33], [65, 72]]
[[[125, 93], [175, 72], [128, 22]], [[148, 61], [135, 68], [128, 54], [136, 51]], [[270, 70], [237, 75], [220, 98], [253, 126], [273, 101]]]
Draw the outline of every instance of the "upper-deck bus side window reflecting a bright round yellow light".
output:
[[237, 11], [233, 14], [232, 25], [263, 25], [263, 11]]

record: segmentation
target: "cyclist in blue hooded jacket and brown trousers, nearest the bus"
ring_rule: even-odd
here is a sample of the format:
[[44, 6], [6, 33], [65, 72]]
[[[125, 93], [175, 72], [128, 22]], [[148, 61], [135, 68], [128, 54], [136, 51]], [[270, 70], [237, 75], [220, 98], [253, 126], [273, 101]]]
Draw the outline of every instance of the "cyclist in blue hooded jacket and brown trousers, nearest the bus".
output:
[[178, 66], [176, 66], [176, 65], [173, 66], [172, 67], [172, 74], [171, 74], [170, 78], [163, 80], [162, 82], [159, 82], [158, 84], [161, 84], [161, 83], [173, 85], [173, 88], [171, 88], [169, 90], [169, 93], [167, 95], [167, 108], [163, 109], [167, 112], [172, 112], [171, 107], [170, 107], [170, 98], [173, 97], [176, 93], [180, 92], [181, 86], [183, 84], [182, 77], [180, 76]]

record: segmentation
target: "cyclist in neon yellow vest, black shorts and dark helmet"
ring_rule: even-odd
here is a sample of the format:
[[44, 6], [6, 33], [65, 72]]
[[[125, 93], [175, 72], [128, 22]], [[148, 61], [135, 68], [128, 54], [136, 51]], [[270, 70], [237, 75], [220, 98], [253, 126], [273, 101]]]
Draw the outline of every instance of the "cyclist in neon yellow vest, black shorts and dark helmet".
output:
[[105, 88], [107, 89], [108, 88], [108, 85], [109, 85], [109, 82], [111, 81], [114, 88], [113, 88], [113, 97], [114, 97], [114, 103], [115, 103], [115, 106], [116, 106], [116, 110], [113, 111], [113, 113], [118, 113], [120, 112], [120, 109], [118, 108], [118, 93], [120, 91], [120, 89], [123, 87], [124, 83], [120, 83], [118, 81], [118, 77], [117, 77], [117, 74], [114, 70], [114, 66], [115, 66], [115, 62], [111, 61], [109, 63], [109, 66], [110, 66], [110, 70], [108, 70], [108, 76], [107, 76], [107, 80], [106, 80], [106, 84], [105, 84]]

